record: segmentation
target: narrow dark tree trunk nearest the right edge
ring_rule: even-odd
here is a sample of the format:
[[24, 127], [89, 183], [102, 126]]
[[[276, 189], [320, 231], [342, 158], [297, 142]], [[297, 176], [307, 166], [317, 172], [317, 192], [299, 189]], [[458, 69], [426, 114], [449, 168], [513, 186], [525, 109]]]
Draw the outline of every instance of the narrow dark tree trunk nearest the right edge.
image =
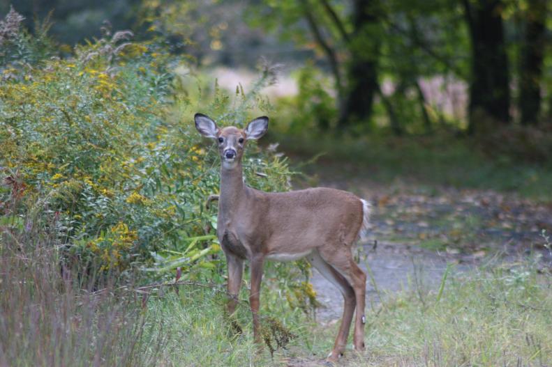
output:
[[521, 125], [537, 125], [541, 106], [540, 81], [546, 31], [546, 0], [529, 0], [519, 70]]

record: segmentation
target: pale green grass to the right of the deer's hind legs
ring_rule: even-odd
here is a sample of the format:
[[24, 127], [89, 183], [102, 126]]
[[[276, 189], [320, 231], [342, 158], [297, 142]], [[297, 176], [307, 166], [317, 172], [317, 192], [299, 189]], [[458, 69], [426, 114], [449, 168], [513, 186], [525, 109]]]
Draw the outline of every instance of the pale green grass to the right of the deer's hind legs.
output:
[[[528, 263], [452, 272], [442, 294], [398, 292], [367, 311], [367, 351], [348, 350], [345, 366], [552, 363], [552, 280]], [[316, 352], [331, 348], [335, 332], [318, 330]]]

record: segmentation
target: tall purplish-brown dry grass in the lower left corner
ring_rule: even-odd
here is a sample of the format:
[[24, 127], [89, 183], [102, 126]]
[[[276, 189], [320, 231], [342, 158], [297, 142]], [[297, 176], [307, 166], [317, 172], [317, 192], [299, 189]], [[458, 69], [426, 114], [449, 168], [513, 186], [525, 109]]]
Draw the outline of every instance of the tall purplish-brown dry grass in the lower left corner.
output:
[[133, 299], [64, 265], [49, 224], [0, 227], [0, 365], [151, 366], [137, 358], [144, 318]]

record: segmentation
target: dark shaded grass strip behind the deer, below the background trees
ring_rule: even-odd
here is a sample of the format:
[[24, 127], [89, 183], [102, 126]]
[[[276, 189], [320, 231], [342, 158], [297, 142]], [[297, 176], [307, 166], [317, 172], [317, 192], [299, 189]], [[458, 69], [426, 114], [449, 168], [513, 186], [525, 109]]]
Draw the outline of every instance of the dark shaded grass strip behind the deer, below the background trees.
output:
[[[452, 136], [287, 136], [273, 133], [282, 150], [299, 159], [306, 173], [371, 180], [382, 185], [493, 189], [551, 201], [552, 166], [513, 155], [483, 153], [473, 141]], [[361, 173], [359, 173], [361, 172]], [[343, 179], [342, 179], [343, 180]]]

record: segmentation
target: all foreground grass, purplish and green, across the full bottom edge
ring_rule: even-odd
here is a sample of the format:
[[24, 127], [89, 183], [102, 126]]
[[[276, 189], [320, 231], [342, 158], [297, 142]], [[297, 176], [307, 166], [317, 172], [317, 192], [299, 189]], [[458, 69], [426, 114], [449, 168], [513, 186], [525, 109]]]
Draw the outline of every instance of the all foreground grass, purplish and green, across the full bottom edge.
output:
[[[297, 336], [271, 358], [266, 347], [257, 352], [246, 304], [236, 316], [244, 334], [236, 335], [223, 312], [225, 296], [216, 289], [181, 286], [177, 294], [167, 287], [142, 298], [110, 286], [109, 278], [84, 281], [60, 266], [55, 247], [33, 238], [25, 244], [24, 237], [3, 231], [2, 366], [293, 366], [318, 363], [336, 336], [337, 324], [313, 322], [290, 308], [267, 277], [262, 314]], [[451, 271], [438, 290], [419, 276], [410, 291], [387, 294], [366, 311], [367, 352], [350, 350], [343, 365], [552, 363], [552, 277], [529, 260]], [[266, 318], [263, 325], [270, 325]]]

